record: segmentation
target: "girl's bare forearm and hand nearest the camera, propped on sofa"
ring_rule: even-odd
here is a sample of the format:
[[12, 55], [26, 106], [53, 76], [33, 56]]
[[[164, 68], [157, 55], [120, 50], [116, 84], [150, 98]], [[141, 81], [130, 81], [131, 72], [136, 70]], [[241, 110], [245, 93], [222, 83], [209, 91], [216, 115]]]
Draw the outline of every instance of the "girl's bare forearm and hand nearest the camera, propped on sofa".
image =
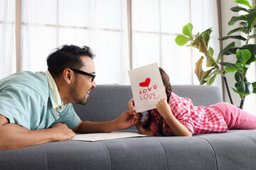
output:
[[156, 105], [157, 111], [163, 116], [166, 123], [169, 125], [171, 130], [174, 132], [176, 136], [189, 136], [191, 137], [193, 134], [190, 130], [188, 130], [184, 125], [182, 125], [171, 112], [171, 108], [166, 101], [166, 98], [163, 98]]

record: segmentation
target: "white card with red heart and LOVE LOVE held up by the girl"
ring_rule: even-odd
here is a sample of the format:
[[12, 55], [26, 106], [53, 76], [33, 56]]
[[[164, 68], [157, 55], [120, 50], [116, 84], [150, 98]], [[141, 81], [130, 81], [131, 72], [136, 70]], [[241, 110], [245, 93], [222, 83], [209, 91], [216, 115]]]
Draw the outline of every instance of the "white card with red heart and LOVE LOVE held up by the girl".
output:
[[166, 98], [157, 63], [129, 70], [128, 74], [137, 113], [156, 108], [160, 99]]

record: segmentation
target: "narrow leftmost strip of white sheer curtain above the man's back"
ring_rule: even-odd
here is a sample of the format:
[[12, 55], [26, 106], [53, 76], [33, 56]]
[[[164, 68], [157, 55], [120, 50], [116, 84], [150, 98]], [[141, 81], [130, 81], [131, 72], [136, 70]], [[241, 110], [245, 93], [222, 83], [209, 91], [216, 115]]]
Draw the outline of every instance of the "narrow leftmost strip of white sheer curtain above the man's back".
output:
[[15, 0], [0, 0], [0, 79], [16, 72]]

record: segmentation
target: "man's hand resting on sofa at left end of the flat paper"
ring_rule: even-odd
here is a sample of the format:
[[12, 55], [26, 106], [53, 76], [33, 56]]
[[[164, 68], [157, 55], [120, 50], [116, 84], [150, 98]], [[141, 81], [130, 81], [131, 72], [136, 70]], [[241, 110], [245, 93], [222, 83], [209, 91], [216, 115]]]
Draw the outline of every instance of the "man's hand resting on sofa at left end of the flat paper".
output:
[[63, 123], [57, 123], [51, 130], [55, 133], [55, 141], [70, 140], [75, 137], [75, 132], [70, 130], [68, 126]]

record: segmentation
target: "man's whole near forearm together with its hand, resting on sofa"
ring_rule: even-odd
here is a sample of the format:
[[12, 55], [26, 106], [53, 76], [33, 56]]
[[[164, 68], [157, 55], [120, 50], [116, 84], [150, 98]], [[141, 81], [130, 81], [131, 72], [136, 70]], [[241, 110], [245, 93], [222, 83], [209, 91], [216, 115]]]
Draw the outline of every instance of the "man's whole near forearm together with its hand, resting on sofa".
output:
[[0, 150], [70, 140], [74, 136], [75, 133], [62, 123], [57, 123], [50, 129], [40, 130], [28, 130], [14, 123], [6, 123], [0, 126]]

